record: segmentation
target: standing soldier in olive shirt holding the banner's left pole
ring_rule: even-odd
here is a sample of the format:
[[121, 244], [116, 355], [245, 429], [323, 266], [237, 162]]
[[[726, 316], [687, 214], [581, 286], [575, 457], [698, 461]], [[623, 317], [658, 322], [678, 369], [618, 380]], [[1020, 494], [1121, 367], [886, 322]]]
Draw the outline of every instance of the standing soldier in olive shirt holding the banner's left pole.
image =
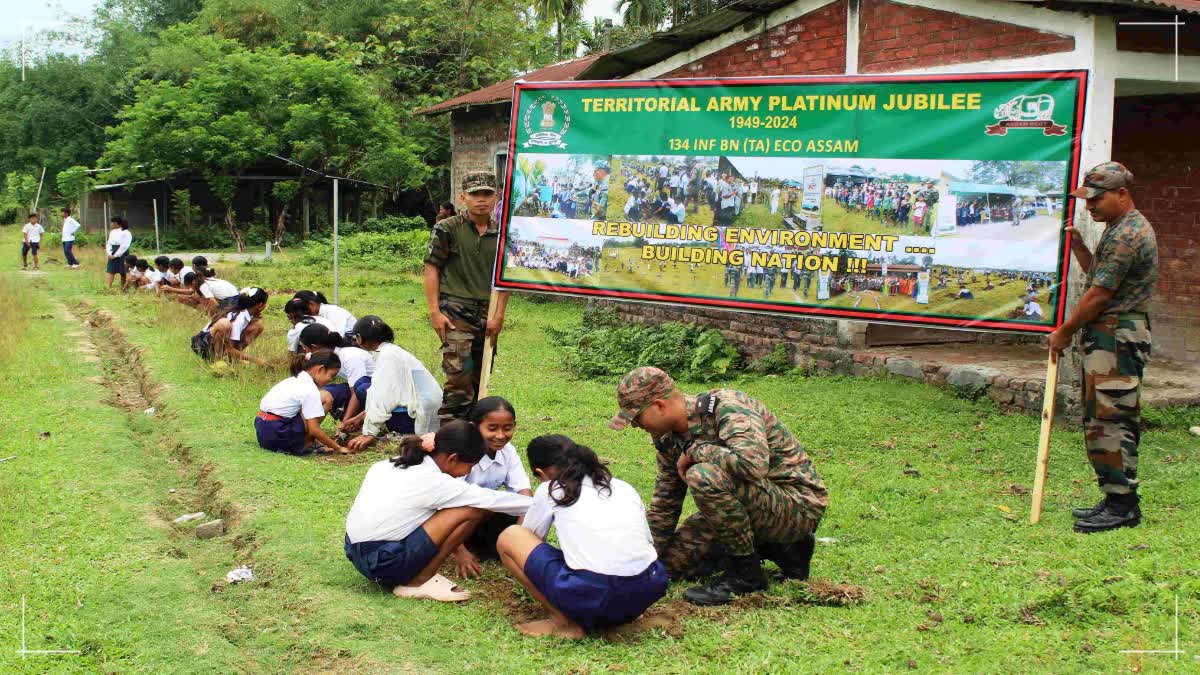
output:
[[509, 303], [508, 293], [498, 293], [496, 312], [488, 321], [499, 234], [492, 216], [496, 175], [486, 171], [468, 173], [458, 201], [467, 205], [466, 213], [433, 226], [425, 257], [425, 300], [433, 330], [442, 340], [442, 370], [446, 376], [438, 411], [443, 422], [466, 417], [479, 398], [484, 338], [494, 340], [499, 335]]

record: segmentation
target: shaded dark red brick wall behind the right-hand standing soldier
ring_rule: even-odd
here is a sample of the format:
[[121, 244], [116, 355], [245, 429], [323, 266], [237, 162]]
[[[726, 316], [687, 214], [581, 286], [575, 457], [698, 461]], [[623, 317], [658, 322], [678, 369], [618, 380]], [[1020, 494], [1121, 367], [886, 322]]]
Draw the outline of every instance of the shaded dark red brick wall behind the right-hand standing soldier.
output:
[[1200, 95], [1117, 98], [1112, 157], [1158, 237], [1154, 352], [1200, 359]]

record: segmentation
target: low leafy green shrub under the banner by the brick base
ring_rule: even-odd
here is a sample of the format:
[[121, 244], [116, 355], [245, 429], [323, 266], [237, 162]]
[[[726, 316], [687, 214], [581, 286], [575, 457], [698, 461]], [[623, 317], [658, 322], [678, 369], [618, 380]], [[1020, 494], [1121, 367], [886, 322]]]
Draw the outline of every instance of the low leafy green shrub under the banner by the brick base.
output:
[[652, 365], [676, 377], [712, 380], [740, 362], [737, 347], [719, 330], [678, 322], [620, 324], [608, 309], [589, 307], [578, 328], [551, 329], [550, 336], [563, 347], [566, 369], [583, 378], [622, 376]]

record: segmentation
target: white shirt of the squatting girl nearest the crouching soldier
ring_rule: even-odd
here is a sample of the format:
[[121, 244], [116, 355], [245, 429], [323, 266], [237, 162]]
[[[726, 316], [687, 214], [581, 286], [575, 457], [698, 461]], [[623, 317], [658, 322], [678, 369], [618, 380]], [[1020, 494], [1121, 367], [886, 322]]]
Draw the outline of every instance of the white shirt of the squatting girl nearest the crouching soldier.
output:
[[[523, 525], [542, 539], [553, 525], [568, 567], [634, 577], [659, 558], [646, 524], [646, 506], [632, 485], [613, 478], [608, 494], [596, 490], [592, 479], [584, 478], [580, 498], [560, 507], [551, 498], [552, 483], [538, 485]], [[556, 484], [554, 492], [560, 495], [559, 490]]]

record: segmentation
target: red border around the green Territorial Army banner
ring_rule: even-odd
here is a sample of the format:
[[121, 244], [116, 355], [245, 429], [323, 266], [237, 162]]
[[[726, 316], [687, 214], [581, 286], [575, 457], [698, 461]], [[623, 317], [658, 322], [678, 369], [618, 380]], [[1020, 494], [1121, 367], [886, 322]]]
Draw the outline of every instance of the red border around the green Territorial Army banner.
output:
[[[730, 78], [696, 78], [696, 79], [616, 79], [616, 80], [582, 80], [582, 82], [521, 82], [512, 86], [512, 103], [509, 114], [509, 156], [504, 174], [504, 192], [502, 199], [504, 208], [500, 215], [499, 251], [496, 256], [496, 267], [492, 269], [492, 287], [499, 291], [532, 291], [535, 293], [553, 293], [565, 295], [601, 297], [620, 300], [634, 300], [643, 303], [670, 303], [702, 305], [715, 309], [727, 309], [730, 311], [751, 311], [756, 313], [786, 315], [786, 316], [814, 316], [817, 318], [847, 318], [853, 321], [874, 321], [880, 323], [895, 323], [904, 325], [934, 325], [942, 328], [958, 328], [968, 330], [994, 330], [1026, 334], [1049, 334], [1062, 325], [1067, 311], [1067, 279], [1070, 265], [1070, 234], [1063, 233], [1060, 239], [1062, 247], [1062, 261], [1058, 265], [1058, 295], [1054, 312], [1054, 324], [1031, 324], [1020, 321], [989, 321], [959, 317], [914, 316], [900, 315], [895, 312], [869, 312], [844, 307], [812, 307], [805, 305], [775, 305], [764, 306], [763, 303], [746, 303], [724, 298], [698, 298], [695, 295], [670, 295], [662, 293], [638, 293], [631, 291], [610, 291], [605, 288], [582, 288], [576, 286], [556, 286], [552, 283], [530, 283], [523, 281], [502, 281], [500, 270], [504, 268], [506, 247], [504, 246], [509, 226], [510, 190], [512, 186], [512, 165], [516, 159], [516, 135], [517, 135], [517, 102], [522, 91], [526, 90], [554, 90], [554, 89], [614, 89], [631, 86], [739, 86], [760, 84], [875, 84], [888, 82], [977, 82], [977, 80], [1020, 80], [1020, 79], [1074, 79], [1078, 83], [1075, 98], [1075, 129], [1070, 143], [1070, 177], [1068, 184], [1079, 184], [1079, 162], [1082, 144], [1084, 114], [1087, 102], [1087, 78], [1086, 70], [1069, 71], [1016, 71], [996, 73], [940, 73], [940, 74], [895, 74], [895, 76], [805, 76], [805, 77], [730, 77]], [[1070, 197], [1063, 196], [1064, 199]], [[1072, 226], [1075, 221], [1075, 204], [1064, 203], [1066, 225]]]

